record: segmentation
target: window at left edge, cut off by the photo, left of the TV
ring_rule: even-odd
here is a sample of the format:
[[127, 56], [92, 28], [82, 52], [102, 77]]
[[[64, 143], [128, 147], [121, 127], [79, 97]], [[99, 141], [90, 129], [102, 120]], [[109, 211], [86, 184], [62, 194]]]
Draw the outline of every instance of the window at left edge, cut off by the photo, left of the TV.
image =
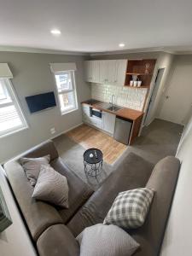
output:
[[0, 137], [27, 128], [9, 79], [0, 79]]

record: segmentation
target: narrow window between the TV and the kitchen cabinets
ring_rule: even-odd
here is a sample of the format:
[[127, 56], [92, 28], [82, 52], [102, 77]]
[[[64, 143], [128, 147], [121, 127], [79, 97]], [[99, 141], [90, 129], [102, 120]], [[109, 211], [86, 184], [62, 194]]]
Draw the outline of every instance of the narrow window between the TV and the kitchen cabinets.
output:
[[61, 113], [71, 112], [78, 107], [74, 71], [55, 73]]

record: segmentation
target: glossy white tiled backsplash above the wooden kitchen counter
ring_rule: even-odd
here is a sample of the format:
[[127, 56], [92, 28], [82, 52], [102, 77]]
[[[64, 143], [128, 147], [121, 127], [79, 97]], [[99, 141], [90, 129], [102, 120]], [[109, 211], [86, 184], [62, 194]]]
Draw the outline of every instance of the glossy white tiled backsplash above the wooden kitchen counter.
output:
[[114, 103], [125, 107], [142, 110], [147, 93], [146, 88], [129, 88], [108, 84], [91, 84], [91, 97], [102, 102], [111, 102], [111, 96], [115, 96]]

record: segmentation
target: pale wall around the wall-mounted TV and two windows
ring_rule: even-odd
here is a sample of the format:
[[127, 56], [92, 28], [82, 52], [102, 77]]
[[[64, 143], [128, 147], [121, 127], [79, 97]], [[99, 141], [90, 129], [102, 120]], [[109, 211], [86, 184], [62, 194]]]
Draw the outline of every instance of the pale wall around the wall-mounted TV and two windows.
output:
[[0, 163], [49, 139], [51, 127], [55, 127], [56, 135], [82, 122], [81, 108], [61, 116], [58, 102], [56, 108], [30, 114], [25, 97], [50, 90], [54, 90], [56, 96], [55, 79], [49, 63], [76, 62], [75, 79], [80, 107], [80, 102], [90, 98], [90, 86], [84, 82], [84, 56], [0, 52], [0, 62], [9, 63], [14, 75], [12, 82], [29, 125], [25, 131], [0, 138]]

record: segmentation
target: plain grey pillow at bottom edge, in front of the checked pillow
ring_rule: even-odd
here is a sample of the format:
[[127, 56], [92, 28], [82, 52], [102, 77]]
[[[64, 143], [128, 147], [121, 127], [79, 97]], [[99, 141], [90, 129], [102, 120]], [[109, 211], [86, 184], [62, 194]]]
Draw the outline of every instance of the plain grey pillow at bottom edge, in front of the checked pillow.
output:
[[80, 256], [131, 256], [139, 247], [129, 234], [112, 224], [86, 228], [76, 239]]

